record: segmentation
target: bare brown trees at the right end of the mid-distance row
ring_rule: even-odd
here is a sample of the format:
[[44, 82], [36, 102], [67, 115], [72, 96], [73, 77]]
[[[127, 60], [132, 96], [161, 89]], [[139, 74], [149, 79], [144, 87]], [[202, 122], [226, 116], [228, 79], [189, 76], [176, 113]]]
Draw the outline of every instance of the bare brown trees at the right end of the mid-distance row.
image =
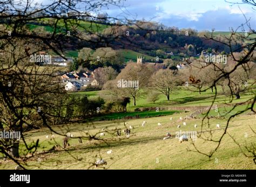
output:
[[[244, 53], [233, 53], [235, 57], [241, 58]], [[191, 58], [189, 60], [190, 66], [180, 71], [181, 80], [183, 83], [187, 82], [193, 87], [197, 88], [199, 94], [205, 88], [210, 88], [213, 92], [215, 86], [220, 86], [223, 93], [226, 96], [235, 96], [240, 98], [240, 93], [248, 90], [248, 84], [250, 80], [255, 80], [256, 65], [255, 57], [251, 59], [250, 62], [244, 67], [239, 67], [236, 71], [230, 74], [230, 78], [222, 77], [218, 82], [216, 82], [216, 77], [218, 77], [224, 71], [231, 71], [235, 64], [232, 60], [232, 56], [227, 57], [227, 64], [221, 63], [206, 63], [205, 59], [194, 60]]]

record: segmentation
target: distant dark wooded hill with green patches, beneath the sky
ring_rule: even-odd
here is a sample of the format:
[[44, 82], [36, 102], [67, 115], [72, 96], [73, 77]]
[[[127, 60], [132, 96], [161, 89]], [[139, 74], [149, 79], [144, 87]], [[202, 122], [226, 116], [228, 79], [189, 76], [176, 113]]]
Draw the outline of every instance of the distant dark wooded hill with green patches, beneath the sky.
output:
[[[42, 27], [45, 31], [53, 32], [53, 27], [51, 24], [50, 18], [44, 18], [37, 22], [29, 22], [27, 26], [30, 30], [34, 30], [35, 28]], [[145, 59], [152, 60], [156, 59], [156, 56], [159, 56], [160, 59], [172, 58], [174, 60], [180, 60], [185, 56], [198, 56], [203, 50], [218, 49], [219, 52], [225, 51], [228, 53], [229, 48], [219, 42], [215, 42], [212, 40], [207, 40], [202, 37], [198, 37], [197, 32], [193, 30], [189, 30], [188, 35], [185, 34], [186, 30], [158, 30], [156, 33], [152, 33], [151, 31], [147, 31], [146, 29], [138, 28], [135, 26], [113, 26], [112, 24], [103, 24], [103, 23], [90, 23], [90, 21], [84, 20], [69, 20], [70, 25], [78, 21], [79, 26], [77, 30], [79, 32], [85, 32], [87, 34], [97, 33], [99, 35], [105, 35], [107, 32], [110, 32], [109, 35], [105, 35], [107, 39], [106, 42], [98, 42], [94, 45], [86, 44], [86, 42], [80, 42], [77, 45], [78, 40], [75, 37], [71, 37], [69, 44], [69, 49], [66, 51], [67, 56], [77, 57], [79, 49], [83, 47], [90, 48], [98, 48], [105, 47], [105, 43], [107, 46], [112, 47], [113, 49], [122, 51], [123, 57], [125, 61], [137, 60], [138, 55], [144, 55]], [[57, 32], [66, 33], [66, 27], [64, 25], [64, 21], [60, 20], [57, 24], [58, 29]], [[111, 26], [115, 32], [124, 33], [119, 37], [115, 37], [114, 33], [111, 33]], [[125, 27], [125, 29], [124, 29]], [[129, 31], [129, 37], [125, 35], [125, 33]], [[231, 32], [213, 32], [213, 35], [217, 37], [218, 35], [224, 35], [228, 37]], [[254, 37], [255, 35], [251, 35], [250, 37]], [[189, 46], [192, 45], [192, 46]], [[77, 47], [78, 46], [78, 47]], [[190, 47], [191, 51], [188, 51], [186, 48]], [[237, 46], [239, 48], [239, 44]], [[172, 52], [172, 56], [165, 55], [164, 53], [159, 55], [157, 54], [157, 50], [161, 50], [163, 52]]]

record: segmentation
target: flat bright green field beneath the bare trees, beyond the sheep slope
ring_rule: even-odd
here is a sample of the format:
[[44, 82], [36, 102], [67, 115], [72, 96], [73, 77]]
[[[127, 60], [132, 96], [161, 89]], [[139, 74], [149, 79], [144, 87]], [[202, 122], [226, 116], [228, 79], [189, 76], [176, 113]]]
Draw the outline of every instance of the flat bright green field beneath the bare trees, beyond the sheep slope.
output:
[[[100, 95], [102, 91], [83, 91], [83, 92], [73, 92], [71, 95], [77, 95], [79, 97], [87, 95], [90, 98], [96, 98]], [[150, 93], [150, 91], [148, 91]], [[219, 88], [218, 92], [221, 92]], [[255, 90], [254, 90], [255, 92]], [[232, 103], [245, 102], [247, 99], [252, 98], [251, 94], [242, 94], [240, 99], [234, 99]], [[134, 109], [139, 107], [179, 107], [179, 106], [207, 106], [211, 105], [214, 99], [214, 93], [211, 90], [206, 92], [201, 92], [199, 95], [198, 90], [194, 87], [177, 87], [170, 95], [170, 100], [166, 99], [166, 96], [160, 94], [159, 100], [152, 103], [147, 100], [147, 95], [139, 97], [136, 100], [136, 106], [133, 106], [133, 102], [127, 105], [127, 111], [134, 111]], [[229, 97], [223, 95], [218, 95], [215, 99], [215, 104], [222, 105], [223, 103], [229, 102]]]

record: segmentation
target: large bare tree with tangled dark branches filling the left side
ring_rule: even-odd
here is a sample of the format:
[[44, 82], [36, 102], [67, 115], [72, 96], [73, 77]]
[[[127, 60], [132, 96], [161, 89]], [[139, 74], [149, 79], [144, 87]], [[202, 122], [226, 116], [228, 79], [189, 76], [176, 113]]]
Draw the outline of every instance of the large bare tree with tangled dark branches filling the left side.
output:
[[[83, 8], [76, 6], [77, 3], [82, 3]], [[102, 28], [92, 12], [98, 12], [99, 7], [122, 5], [108, 0], [51, 1], [44, 4], [4, 1], [0, 5], [0, 53], [4, 56], [0, 60], [0, 127], [6, 131], [21, 132], [25, 159], [20, 157], [18, 138], [1, 139], [0, 152], [24, 169], [28, 159], [26, 155], [32, 153], [33, 156], [39, 142], [29, 144], [24, 132], [45, 126], [66, 136], [65, 132], [54, 131], [52, 125], [67, 117], [63, 108], [67, 104], [65, 100], [69, 99], [56, 77], [57, 68], [37, 66], [31, 62], [31, 55], [55, 53], [66, 59], [64, 53], [70, 50], [70, 46], [107, 46], [109, 39], [100, 34]], [[89, 22], [80, 24], [82, 18]], [[109, 22], [116, 20], [109, 16], [104, 19]], [[38, 28], [33, 30], [31, 25]], [[48, 25], [50, 31], [45, 31], [44, 25]], [[97, 139], [96, 135], [86, 135], [85, 138]]]

